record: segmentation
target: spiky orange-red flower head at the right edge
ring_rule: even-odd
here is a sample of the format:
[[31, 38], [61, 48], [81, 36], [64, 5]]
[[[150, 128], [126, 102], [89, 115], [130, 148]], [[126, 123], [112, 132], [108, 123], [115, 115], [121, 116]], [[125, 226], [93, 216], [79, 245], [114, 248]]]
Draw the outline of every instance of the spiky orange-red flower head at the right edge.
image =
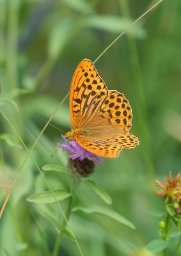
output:
[[160, 186], [163, 191], [154, 191], [159, 196], [166, 196], [165, 202], [168, 201], [168, 198], [172, 198], [174, 201], [177, 199], [180, 202], [181, 198], [181, 186], [179, 182], [180, 172], [177, 174], [175, 179], [172, 178], [171, 171], [169, 171], [169, 179], [165, 178], [165, 185], [162, 184], [159, 180], [155, 180], [156, 185]]

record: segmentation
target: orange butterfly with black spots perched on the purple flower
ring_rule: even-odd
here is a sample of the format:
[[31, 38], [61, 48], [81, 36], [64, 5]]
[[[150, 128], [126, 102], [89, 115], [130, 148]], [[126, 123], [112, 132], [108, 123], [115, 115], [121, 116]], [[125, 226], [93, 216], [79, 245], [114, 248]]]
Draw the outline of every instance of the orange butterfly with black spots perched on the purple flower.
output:
[[129, 133], [132, 111], [122, 93], [107, 90], [93, 63], [77, 66], [70, 88], [72, 131], [67, 140], [102, 157], [117, 157], [122, 148], [134, 148], [138, 138]]

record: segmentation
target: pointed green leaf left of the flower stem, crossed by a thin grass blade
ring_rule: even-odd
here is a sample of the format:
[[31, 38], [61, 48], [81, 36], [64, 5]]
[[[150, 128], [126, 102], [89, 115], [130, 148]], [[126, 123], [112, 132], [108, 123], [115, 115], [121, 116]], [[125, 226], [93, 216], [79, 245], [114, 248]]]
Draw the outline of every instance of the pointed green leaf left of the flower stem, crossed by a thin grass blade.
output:
[[[58, 201], [64, 200], [65, 198], [70, 196], [70, 194], [65, 189], [58, 188], [52, 189], [52, 191]], [[53, 202], [56, 202], [54, 196], [51, 193], [51, 190], [29, 196], [26, 200], [36, 204], [51, 204]]]

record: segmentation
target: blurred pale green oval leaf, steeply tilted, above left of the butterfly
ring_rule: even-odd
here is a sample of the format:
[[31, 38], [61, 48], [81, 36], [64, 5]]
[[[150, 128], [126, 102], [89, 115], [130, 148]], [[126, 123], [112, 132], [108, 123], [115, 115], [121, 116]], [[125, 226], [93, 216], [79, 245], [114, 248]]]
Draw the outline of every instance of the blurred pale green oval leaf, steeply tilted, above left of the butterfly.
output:
[[49, 56], [58, 56], [63, 47], [67, 44], [70, 31], [74, 28], [74, 24], [74, 20], [64, 19], [52, 29], [47, 50]]

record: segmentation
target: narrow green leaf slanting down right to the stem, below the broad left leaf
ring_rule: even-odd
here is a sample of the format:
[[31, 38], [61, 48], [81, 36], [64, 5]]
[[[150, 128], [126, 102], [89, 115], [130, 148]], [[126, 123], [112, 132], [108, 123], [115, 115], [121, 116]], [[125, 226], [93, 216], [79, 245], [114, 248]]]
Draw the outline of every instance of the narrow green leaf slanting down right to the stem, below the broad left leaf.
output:
[[44, 218], [49, 220], [55, 227], [57, 227], [60, 232], [63, 232], [63, 234], [65, 234], [65, 236], [67, 236], [68, 238], [70, 238], [74, 242], [77, 241], [77, 239], [74, 236], [72, 236], [72, 234], [70, 234], [70, 232], [68, 232], [68, 230], [65, 227], [63, 227], [63, 225], [61, 225], [61, 223], [59, 223], [59, 221], [52, 218], [52, 216], [50, 216], [47, 212], [40, 211], [40, 209], [38, 209], [37, 207], [36, 207], [36, 209], [38, 210], [38, 212], [40, 212], [40, 214]]

